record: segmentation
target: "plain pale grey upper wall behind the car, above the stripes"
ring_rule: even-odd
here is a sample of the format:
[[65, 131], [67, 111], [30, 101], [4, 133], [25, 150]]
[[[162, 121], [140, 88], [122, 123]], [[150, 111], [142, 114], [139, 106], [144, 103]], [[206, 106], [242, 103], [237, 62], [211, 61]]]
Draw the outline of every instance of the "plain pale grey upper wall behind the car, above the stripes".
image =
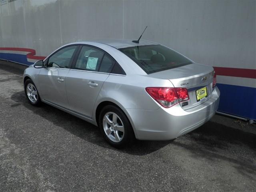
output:
[[159, 42], [210, 66], [256, 68], [255, 0], [16, 0], [0, 5], [0, 47], [46, 56], [100, 38]]

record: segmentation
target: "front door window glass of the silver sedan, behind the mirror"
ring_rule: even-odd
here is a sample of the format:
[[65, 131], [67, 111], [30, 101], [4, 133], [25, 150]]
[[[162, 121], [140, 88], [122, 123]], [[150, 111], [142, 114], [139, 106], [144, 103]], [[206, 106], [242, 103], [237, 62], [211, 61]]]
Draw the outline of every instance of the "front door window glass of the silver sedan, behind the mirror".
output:
[[48, 59], [48, 67], [69, 68], [77, 46], [68, 46], [54, 53]]

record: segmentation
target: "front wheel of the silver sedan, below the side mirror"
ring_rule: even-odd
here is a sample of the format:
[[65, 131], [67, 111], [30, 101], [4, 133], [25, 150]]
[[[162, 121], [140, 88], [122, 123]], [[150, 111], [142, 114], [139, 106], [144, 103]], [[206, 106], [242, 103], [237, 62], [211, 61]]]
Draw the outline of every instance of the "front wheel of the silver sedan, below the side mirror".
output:
[[28, 99], [30, 104], [32, 104], [33, 106], [40, 106], [40, 104], [42, 103], [41, 98], [39, 96], [39, 93], [35, 84], [31, 79], [28, 79], [25, 81], [24, 91], [25, 91], [26, 98]]

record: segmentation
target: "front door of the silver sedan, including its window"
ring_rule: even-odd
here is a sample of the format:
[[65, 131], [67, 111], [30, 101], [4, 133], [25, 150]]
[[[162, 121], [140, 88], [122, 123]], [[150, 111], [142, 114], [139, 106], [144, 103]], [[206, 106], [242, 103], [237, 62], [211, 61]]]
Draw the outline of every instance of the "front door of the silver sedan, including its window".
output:
[[46, 67], [39, 73], [42, 98], [50, 103], [68, 108], [66, 76], [78, 46], [67, 46], [52, 54], [45, 62]]

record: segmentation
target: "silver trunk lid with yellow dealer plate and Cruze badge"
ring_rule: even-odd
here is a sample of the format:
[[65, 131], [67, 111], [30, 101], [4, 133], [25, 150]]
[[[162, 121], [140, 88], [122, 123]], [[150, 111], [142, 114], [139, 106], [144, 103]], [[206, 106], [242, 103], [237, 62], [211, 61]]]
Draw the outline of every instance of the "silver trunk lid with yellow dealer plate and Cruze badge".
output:
[[175, 88], [187, 88], [189, 100], [180, 103], [180, 106], [184, 110], [204, 103], [210, 98], [213, 91], [212, 81], [214, 69], [202, 64], [192, 63], [186, 66], [152, 73], [149, 76], [168, 79]]

